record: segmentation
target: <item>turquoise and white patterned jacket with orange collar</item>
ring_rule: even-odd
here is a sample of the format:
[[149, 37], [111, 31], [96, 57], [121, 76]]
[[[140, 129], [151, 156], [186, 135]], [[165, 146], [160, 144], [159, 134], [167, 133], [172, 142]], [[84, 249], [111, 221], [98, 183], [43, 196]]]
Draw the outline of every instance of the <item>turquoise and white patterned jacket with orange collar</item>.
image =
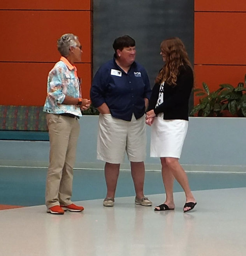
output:
[[70, 113], [82, 116], [79, 106], [62, 104], [65, 95], [82, 98], [76, 67], [70, 64], [65, 57], [61, 57], [49, 72], [47, 97], [43, 111], [51, 114]]

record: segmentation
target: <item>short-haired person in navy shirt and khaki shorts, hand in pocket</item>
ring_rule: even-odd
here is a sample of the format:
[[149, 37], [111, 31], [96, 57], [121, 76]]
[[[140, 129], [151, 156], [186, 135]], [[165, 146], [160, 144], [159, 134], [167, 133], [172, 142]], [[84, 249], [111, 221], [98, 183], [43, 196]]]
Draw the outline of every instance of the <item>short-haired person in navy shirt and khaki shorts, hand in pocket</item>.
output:
[[114, 58], [97, 71], [91, 101], [99, 112], [97, 159], [105, 161], [107, 195], [104, 206], [114, 205], [120, 163], [125, 151], [131, 163], [135, 204], [151, 206], [144, 196], [146, 156], [145, 112], [151, 89], [145, 69], [135, 62], [135, 41], [130, 36], [114, 40]]

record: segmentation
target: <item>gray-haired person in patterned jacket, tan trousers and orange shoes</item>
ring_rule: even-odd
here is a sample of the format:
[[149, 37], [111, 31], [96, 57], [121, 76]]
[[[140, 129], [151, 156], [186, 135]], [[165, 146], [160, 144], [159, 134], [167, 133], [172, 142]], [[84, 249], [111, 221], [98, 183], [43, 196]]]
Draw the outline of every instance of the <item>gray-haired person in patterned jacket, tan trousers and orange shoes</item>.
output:
[[79, 136], [81, 111], [90, 107], [82, 99], [81, 87], [74, 62], [81, 61], [82, 46], [74, 34], [65, 34], [57, 41], [62, 55], [51, 69], [47, 81], [47, 112], [50, 154], [46, 180], [47, 212], [64, 214], [64, 210], [81, 212], [83, 206], [72, 203], [73, 166]]

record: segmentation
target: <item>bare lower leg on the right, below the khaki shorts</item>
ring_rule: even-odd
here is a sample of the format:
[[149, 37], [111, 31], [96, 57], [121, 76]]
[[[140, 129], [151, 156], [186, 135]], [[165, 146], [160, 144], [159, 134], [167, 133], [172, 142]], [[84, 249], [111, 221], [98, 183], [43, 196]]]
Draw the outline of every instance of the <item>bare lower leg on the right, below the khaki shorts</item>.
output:
[[132, 179], [137, 198], [144, 197], [144, 162], [131, 162]]

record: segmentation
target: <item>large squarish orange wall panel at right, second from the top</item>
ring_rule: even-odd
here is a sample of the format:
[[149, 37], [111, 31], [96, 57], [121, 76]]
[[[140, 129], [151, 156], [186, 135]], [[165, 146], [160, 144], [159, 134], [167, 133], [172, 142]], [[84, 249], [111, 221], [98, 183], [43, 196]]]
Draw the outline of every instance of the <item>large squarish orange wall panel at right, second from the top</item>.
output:
[[246, 64], [246, 12], [195, 12], [195, 64]]

